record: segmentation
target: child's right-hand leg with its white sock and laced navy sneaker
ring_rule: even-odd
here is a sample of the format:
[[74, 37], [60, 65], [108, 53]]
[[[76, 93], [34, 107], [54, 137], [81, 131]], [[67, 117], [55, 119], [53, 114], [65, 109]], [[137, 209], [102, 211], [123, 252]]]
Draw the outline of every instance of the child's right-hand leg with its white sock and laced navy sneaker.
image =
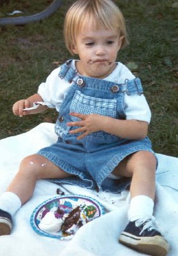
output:
[[126, 157], [114, 174], [132, 177], [129, 223], [119, 242], [149, 255], [166, 255], [165, 241], [152, 217], [155, 196], [156, 158], [151, 152], [140, 151]]

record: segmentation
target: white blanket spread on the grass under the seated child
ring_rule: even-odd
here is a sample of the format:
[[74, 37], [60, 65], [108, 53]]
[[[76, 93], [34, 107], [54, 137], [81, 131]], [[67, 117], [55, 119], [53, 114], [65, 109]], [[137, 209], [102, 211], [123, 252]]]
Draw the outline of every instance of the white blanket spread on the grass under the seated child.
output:
[[[54, 124], [43, 123], [29, 132], [0, 141], [0, 194], [10, 184], [22, 158], [35, 153], [56, 141]], [[156, 205], [154, 215], [161, 231], [170, 243], [168, 256], [178, 255], [178, 159], [157, 154], [159, 159], [156, 175]], [[59, 241], [36, 234], [29, 223], [31, 213], [41, 202], [56, 196], [56, 184], [40, 180], [34, 195], [17, 212], [10, 236], [0, 237], [1, 256], [138, 256], [118, 243], [120, 232], [127, 223], [126, 213], [130, 202], [127, 191], [121, 194], [78, 188], [64, 184], [60, 188], [66, 194], [87, 195], [100, 201], [107, 214], [87, 223], [71, 241]]]

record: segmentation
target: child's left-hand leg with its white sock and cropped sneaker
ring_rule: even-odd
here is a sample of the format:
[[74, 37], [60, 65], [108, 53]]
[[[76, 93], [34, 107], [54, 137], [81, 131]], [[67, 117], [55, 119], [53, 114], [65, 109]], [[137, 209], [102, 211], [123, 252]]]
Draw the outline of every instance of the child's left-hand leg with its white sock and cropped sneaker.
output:
[[33, 195], [39, 179], [60, 179], [70, 174], [58, 168], [45, 157], [34, 154], [26, 157], [7, 191], [0, 196], [0, 236], [8, 235], [12, 228], [12, 216]]

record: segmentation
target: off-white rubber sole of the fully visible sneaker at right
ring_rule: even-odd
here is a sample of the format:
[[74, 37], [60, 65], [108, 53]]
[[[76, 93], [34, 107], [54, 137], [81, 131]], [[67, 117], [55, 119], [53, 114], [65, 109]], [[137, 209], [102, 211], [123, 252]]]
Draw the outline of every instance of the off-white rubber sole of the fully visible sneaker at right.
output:
[[119, 242], [133, 250], [152, 256], [165, 256], [169, 248], [167, 241], [162, 236], [137, 237], [127, 232], [122, 232], [119, 237]]

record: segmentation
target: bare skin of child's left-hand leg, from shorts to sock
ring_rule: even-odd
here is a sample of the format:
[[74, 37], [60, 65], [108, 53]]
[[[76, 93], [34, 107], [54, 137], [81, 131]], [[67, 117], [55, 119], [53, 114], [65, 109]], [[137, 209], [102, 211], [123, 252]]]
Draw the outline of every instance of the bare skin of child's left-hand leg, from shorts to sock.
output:
[[15, 175], [7, 191], [19, 196], [21, 203], [24, 204], [33, 195], [36, 180], [60, 179], [69, 176], [71, 175], [61, 170], [47, 158], [40, 154], [34, 154], [22, 160], [19, 172]]

